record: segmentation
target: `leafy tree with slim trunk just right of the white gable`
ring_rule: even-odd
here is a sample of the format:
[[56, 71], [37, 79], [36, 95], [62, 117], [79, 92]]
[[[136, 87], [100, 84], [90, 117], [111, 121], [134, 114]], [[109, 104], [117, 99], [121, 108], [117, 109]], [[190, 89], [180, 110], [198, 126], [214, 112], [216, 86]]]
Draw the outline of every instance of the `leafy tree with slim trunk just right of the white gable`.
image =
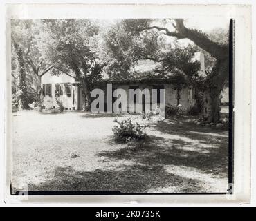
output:
[[91, 103], [89, 95], [95, 81], [101, 79], [104, 64], [98, 50], [98, 26], [88, 19], [45, 19], [41, 46], [44, 56], [60, 70], [74, 73], [84, 91], [84, 108]]

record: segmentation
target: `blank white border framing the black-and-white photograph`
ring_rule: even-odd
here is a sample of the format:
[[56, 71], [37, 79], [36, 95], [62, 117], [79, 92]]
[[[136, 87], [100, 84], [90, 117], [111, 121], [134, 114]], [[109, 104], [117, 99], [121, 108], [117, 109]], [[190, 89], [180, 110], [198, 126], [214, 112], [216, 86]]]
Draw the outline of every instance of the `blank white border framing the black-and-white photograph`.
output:
[[[86, 16], [84, 16], [86, 15]], [[10, 19], [42, 18], [206, 18], [235, 19], [234, 193], [232, 195], [10, 195], [12, 155], [10, 111]], [[17, 4], [6, 7], [6, 202], [44, 203], [247, 203], [250, 202], [251, 8], [239, 5]]]

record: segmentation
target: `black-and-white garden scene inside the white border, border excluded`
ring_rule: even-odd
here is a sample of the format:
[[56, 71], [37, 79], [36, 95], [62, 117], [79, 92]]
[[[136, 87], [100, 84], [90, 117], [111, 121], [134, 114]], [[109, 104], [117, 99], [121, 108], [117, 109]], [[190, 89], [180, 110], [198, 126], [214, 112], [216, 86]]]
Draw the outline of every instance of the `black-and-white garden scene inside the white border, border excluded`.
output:
[[12, 19], [12, 194], [228, 193], [233, 22]]

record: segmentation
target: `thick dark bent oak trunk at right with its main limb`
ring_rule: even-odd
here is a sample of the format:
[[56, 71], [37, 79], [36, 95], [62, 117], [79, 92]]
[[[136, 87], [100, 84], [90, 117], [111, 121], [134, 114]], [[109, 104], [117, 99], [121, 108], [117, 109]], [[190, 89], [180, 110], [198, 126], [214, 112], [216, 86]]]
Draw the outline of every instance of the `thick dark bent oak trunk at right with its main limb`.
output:
[[[220, 101], [219, 95], [223, 89], [226, 80], [228, 79], [228, 45], [217, 44], [211, 41], [202, 32], [195, 29], [186, 28], [183, 24], [183, 19], [175, 19], [176, 31], [179, 33], [179, 39], [188, 38], [194, 41], [194, 44], [201, 47], [217, 59], [217, 63], [212, 70], [210, 76], [205, 81], [205, 88], [203, 90], [203, 117], [207, 122], [218, 122]], [[168, 33], [167, 33], [168, 35]], [[172, 36], [172, 33], [169, 33]]]

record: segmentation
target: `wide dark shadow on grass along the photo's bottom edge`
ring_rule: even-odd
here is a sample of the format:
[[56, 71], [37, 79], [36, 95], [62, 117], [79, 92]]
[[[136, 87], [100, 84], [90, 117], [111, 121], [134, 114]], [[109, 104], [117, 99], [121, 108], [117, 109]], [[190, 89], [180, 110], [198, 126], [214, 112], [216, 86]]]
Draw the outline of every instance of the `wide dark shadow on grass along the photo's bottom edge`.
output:
[[149, 189], [179, 186], [181, 192], [200, 190], [199, 180], [184, 179], [167, 173], [163, 166], [124, 166], [121, 170], [75, 171], [70, 166], [57, 167], [53, 178], [38, 185], [28, 184], [28, 191], [120, 191], [146, 193]]

